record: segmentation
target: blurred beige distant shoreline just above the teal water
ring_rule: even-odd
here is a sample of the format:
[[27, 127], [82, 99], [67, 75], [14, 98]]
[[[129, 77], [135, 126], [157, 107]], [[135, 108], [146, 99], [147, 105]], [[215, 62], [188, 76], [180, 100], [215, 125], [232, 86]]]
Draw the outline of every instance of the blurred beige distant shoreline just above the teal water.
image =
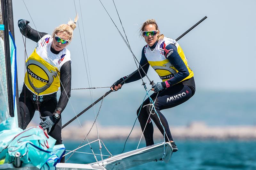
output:
[[[80, 127], [69, 127], [62, 130], [63, 140], [83, 140], [85, 135], [91, 129], [92, 122], [87, 122], [83, 126], [85, 131]], [[100, 139], [125, 140], [132, 127], [124, 126], [104, 126], [98, 124]], [[256, 140], [255, 126], [215, 126], [209, 127], [204, 122], [193, 122], [188, 126], [179, 126], [171, 128], [172, 137], [175, 140]], [[142, 131], [140, 127], [134, 127], [129, 140], [140, 139]], [[96, 128], [93, 127], [88, 138], [98, 138]], [[144, 138], [144, 137], [142, 137]], [[154, 126], [154, 138], [161, 139], [163, 135]]]

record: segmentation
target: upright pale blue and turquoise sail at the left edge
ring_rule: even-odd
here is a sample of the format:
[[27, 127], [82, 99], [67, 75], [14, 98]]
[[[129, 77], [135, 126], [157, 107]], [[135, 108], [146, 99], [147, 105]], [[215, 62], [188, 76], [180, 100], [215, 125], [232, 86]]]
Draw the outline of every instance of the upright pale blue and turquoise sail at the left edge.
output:
[[[5, 30], [5, 28], [8, 26], [8, 22], [5, 23], [4, 21], [4, 19], [6, 19], [4, 18], [5, 17], [4, 15], [6, 14], [4, 14], [3, 5], [4, 5], [3, 1], [1, 1], [0, 3], [0, 66], [1, 66], [1, 69], [0, 69], [0, 81], [1, 81], [0, 123], [5, 121], [8, 117], [10, 117], [10, 115], [15, 116], [16, 121], [18, 122], [17, 106], [15, 104], [15, 100], [18, 97], [15, 95], [16, 94], [16, 78], [17, 78], [16, 46], [10, 31]], [[7, 24], [7, 25], [4, 25], [4, 24]], [[8, 51], [8, 48], [10, 48], [10, 52]], [[10, 66], [8, 64], [10, 64]], [[10, 100], [12, 101], [10, 102]], [[12, 108], [14, 112], [12, 111]]]

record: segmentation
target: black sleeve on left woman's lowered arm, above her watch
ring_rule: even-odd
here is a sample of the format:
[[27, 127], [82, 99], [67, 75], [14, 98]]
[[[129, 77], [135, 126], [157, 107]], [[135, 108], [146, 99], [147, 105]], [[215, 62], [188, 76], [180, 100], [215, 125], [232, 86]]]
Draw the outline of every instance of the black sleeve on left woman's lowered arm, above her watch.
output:
[[71, 95], [71, 61], [67, 61], [60, 68], [60, 99], [54, 112], [61, 114], [68, 104]]

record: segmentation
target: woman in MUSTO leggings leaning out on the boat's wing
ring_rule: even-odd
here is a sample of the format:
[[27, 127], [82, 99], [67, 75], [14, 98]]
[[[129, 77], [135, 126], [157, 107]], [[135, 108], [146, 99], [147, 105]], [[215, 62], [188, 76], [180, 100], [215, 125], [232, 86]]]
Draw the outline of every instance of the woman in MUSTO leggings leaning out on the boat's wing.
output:
[[[156, 85], [152, 86], [153, 93], [150, 97], [155, 101], [155, 110], [150, 105], [149, 98], [146, 99], [142, 106], [137, 110], [138, 119], [142, 131], [144, 130], [144, 137], [146, 140], [146, 145], [150, 146], [154, 144], [153, 140], [153, 124], [151, 119], [155, 122], [157, 128], [164, 135], [165, 141], [171, 142], [173, 152], [178, 151], [176, 144], [173, 142], [171, 131], [167, 120], [160, 110], [175, 107], [184, 103], [189, 98], [191, 98], [196, 90], [194, 73], [188, 66], [188, 61], [183, 53], [178, 42], [171, 38], [165, 37], [160, 34], [159, 28], [154, 19], [149, 19], [143, 23], [141, 26], [141, 35], [147, 42], [142, 49], [142, 55], [140, 59], [140, 65], [144, 65], [144, 70], [147, 73], [149, 65], [156, 71], [162, 82], [158, 82]], [[145, 76], [143, 71], [140, 71], [142, 77]], [[134, 74], [133, 77], [125, 81], [125, 83], [130, 83], [140, 79], [140, 74]], [[128, 75], [129, 76], [129, 75]], [[112, 90], [118, 90], [121, 88], [121, 81], [125, 80], [126, 77], [117, 80]], [[148, 119], [150, 115], [150, 118]], [[161, 124], [162, 123], [162, 124]], [[163, 129], [163, 127], [164, 129]]]

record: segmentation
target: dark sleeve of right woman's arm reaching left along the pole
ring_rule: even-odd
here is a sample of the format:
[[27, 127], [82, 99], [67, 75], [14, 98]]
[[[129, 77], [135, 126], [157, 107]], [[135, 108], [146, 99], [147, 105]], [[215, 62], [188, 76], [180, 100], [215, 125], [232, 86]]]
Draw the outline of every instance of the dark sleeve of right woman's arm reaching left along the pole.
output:
[[[144, 53], [144, 49], [145, 49], [145, 47], [142, 49], [142, 52], [141, 52], [141, 59], [140, 59], [140, 65], [141, 65], [141, 67], [142, 67], [144, 64], [148, 63], [148, 60], [147, 60], [147, 58], [146, 58], [146, 56], [145, 56], [145, 53]], [[148, 73], [148, 68], [149, 68], [149, 63], [146, 64], [146, 65], [145, 65], [144, 67], [142, 67], [142, 68], [143, 68], [143, 70], [145, 71], [145, 73], [147, 74], [147, 73]], [[137, 73], [135, 73], [131, 78], [129, 78], [127, 81], [125, 81], [125, 83], [131, 83], [131, 82], [134, 82], [134, 81], [139, 80], [141, 77], [142, 77], [142, 78], [145, 77], [146, 74], [143, 72], [143, 70], [140, 69], [140, 73], [139, 73], [139, 71], [137, 71]], [[135, 70], [135, 71], [136, 71], [136, 70]], [[133, 71], [132, 73], [134, 73], [135, 71]], [[132, 74], [132, 73], [131, 73], [131, 74]], [[128, 76], [124, 76], [123, 79], [125, 80], [125, 78], [129, 77], [131, 74], [129, 74]], [[141, 77], [140, 77], [140, 74], [141, 74]]]

